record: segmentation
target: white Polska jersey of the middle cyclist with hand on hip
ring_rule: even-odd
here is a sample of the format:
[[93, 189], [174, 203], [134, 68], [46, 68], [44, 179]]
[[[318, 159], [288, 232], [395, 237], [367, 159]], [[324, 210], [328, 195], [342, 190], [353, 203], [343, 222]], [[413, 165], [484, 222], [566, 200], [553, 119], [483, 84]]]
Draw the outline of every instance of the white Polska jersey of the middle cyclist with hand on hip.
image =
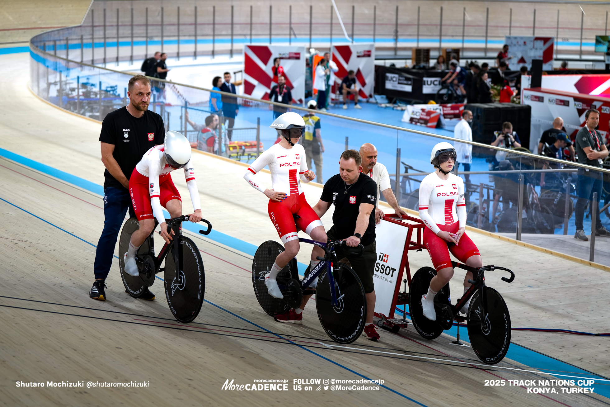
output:
[[292, 148], [274, 144], [248, 167], [243, 178], [263, 193], [266, 188], [256, 182], [254, 176], [267, 165], [271, 171], [271, 189], [276, 192], [299, 195], [303, 192], [301, 181], [309, 182], [304, 176], [309, 171], [305, 161], [305, 149], [300, 144], [295, 144]]

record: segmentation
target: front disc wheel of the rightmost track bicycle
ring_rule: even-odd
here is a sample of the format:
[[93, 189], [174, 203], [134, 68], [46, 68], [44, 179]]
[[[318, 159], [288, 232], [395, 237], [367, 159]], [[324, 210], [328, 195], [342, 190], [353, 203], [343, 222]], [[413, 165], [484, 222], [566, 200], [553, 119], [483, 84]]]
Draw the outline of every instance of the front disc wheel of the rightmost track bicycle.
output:
[[491, 287], [483, 287], [487, 315], [483, 315], [481, 290], [477, 290], [468, 308], [468, 336], [476, 356], [486, 364], [497, 364], [511, 344], [511, 316], [504, 298]]

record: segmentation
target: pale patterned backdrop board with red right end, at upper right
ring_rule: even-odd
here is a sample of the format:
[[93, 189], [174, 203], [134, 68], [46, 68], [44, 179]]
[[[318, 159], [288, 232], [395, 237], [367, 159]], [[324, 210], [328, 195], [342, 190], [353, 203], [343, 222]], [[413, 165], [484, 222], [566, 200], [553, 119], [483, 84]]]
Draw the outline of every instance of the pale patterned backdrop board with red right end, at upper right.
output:
[[534, 37], [533, 35], [505, 35], [508, 45], [508, 63], [511, 70], [520, 67], [532, 68], [533, 59], [542, 59], [542, 69], [553, 69], [553, 45], [555, 37]]

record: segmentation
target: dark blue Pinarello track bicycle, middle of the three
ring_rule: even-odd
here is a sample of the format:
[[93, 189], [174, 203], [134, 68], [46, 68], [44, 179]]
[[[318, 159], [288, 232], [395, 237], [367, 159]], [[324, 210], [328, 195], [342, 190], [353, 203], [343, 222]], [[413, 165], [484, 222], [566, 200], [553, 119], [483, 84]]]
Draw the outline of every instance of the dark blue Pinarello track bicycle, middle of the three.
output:
[[[361, 336], [367, 316], [367, 298], [364, 287], [356, 272], [348, 265], [337, 262], [335, 248], [344, 246], [350, 255], [360, 256], [364, 247], [348, 247], [343, 240], [328, 243], [299, 238], [299, 242], [310, 243], [325, 249], [325, 256], [303, 280], [299, 279], [296, 259], [292, 259], [278, 273], [277, 281], [284, 298], [274, 298], [267, 292], [265, 276], [284, 247], [274, 240], [262, 243], [254, 254], [252, 262], [252, 285], [254, 294], [262, 309], [272, 317], [283, 314], [290, 308], [298, 308], [303, 295], [315, 294], [318, 319], [326, 334], [340, 344], [351, 344]], [[309, 285], [319, 276], [317, 288]]]

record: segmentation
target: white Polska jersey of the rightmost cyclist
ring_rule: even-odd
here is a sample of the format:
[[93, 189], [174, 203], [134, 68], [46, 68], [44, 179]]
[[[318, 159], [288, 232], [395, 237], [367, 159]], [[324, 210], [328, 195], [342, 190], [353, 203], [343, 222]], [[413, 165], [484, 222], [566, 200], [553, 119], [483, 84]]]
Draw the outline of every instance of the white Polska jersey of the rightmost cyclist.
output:
[[464, 181], [457, 175], [449, 174], [447, 180], [440, 179], [436, 172], [428, 174], [420, 185], [419, 214], [432, 232], [438, 234], [437, 225], [466, 226], [466, 204], [464, 201]]

